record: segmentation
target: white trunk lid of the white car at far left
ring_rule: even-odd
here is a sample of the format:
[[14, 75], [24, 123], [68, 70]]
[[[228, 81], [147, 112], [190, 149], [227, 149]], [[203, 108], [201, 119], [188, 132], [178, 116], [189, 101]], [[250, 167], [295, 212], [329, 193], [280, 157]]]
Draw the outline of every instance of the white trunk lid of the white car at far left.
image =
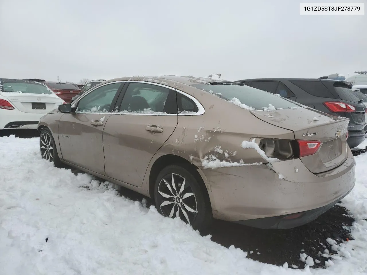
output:
[[62, 103], [55, 95], [1, 92], [19, 111], [25, 113], [48, 113]]

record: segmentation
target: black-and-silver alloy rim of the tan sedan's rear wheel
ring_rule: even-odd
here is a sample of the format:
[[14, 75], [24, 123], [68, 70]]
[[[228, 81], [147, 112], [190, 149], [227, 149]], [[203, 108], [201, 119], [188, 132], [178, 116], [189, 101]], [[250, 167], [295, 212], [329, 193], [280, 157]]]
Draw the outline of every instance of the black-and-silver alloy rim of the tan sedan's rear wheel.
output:
[[169, 173], [158, 185], [158, 205], [166, 217], [180, 217], [192, 224], [197, 216], [197, 201], [190, 183], [184, 177]]

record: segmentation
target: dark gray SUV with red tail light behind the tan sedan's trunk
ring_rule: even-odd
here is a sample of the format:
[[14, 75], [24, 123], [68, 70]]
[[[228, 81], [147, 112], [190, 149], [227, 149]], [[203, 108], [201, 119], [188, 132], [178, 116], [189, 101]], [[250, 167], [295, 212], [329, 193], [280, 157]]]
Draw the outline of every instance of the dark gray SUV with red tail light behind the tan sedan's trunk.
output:
[[313, 78], [254, 78], [238, 82], [280, 94], [295, 102], [335, 116], [349, 118], [348, 145], [357, 147], [364, 140], [367, 125], [366, 106], [353, 94], [352, 85], [345, 81]]

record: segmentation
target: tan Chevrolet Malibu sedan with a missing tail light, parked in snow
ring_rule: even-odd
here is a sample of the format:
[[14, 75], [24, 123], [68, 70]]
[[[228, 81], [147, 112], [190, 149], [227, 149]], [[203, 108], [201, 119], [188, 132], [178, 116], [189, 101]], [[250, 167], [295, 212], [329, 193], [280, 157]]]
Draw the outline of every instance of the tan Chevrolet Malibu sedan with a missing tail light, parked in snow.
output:
[[241, 83], [181, 76], [102, 82], [40, 119], [40, 150], [154, 199], [205, 230], [308, 223], [355, 184], [348, 119]]

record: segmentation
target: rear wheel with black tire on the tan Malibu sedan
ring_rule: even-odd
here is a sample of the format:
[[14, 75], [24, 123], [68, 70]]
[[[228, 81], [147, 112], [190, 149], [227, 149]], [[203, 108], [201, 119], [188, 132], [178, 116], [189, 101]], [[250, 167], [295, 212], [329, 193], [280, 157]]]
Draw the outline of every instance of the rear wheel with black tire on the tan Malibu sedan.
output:
[[[210, 228], [213, 213], [206, 187], [194, 173], [192, 168], [179, 165], [163, 168], [155, 182], [154, 200], [158, 212], [163, 216], [176, 217], [179, 212], [181, 220], [204, 233]], [[172, 175], [176, 189], [172, 186]]]

